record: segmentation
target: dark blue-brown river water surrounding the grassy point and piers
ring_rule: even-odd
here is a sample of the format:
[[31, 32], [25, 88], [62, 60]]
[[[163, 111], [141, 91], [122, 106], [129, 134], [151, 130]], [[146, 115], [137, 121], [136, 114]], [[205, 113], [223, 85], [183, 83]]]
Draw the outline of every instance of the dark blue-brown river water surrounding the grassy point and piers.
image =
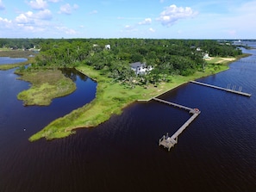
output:
[[91, 102], [96, 84], [70, 74], [78, 86], [72, 95], [23, 107], [16, 95], [28, 83], [0, 71], [0, 191], [256, 191], [256, 50], [246, 52], [253, 55], [198, 81], [242, 86], [251, 97], [190, 83], [160, 96], [202, 111], [171, 152], [159, 138], [190, 115], [153, 101], [66, 139], [30, 143], [50, 121]]

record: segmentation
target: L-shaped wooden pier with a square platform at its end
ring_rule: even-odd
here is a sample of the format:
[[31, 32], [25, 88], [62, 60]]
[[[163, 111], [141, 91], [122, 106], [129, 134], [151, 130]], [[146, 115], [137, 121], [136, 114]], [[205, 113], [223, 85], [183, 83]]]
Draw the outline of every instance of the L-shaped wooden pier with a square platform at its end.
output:
[[170, 151], [171, 148], [175, 144], [178, 143], [178, 135], [181, 134], [184, 131], [184, 129], [186, 129], [186, 127], [188, 127], [190, 125], [190, 123], [197, 118], [197, 116], [201, 113], [201, 111], [198, 108], [188, 108], [186, 106], [179, 105], [179, 104], [174, 103], [174, 102], [167, 102], [165, 100], [155, 98], [155, 97], [153, 97], [152, 99], [155, 100], [155, 101], [158, 101], [158, 102], [163, 102], [165, 104], [172, 105], [174, 107], [184, 108], [185, 110], [188, 110], [190, 112], [190, 114], [193, 114], [188, 121], [185, 121], [183, 126], [180, 127], [178, 129], [178, 131], [176, 131], [174, 134], [172, 134], [171, 137], [169, 137], [168, 133], [167, 133], [166, 135], [164, 135], [162, 138], [159, 139], [159, 146], [164, 146], [165, 148], [168, 149], [168, 151]]

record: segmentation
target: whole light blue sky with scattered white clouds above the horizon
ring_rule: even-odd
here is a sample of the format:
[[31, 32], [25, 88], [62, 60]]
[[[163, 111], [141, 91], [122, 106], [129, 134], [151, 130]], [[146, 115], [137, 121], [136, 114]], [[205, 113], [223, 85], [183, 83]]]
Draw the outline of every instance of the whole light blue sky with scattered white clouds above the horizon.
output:
[[0, 0], [0, 38], [256, 39], [256, 0]]

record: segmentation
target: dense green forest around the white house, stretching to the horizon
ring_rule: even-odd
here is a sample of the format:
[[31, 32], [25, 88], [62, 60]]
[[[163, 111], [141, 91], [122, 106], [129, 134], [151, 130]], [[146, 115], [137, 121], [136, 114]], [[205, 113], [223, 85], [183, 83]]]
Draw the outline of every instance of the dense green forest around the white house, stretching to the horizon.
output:
[[[203, 71], [203, 56], [236, 57], [241, 51], [232, 43], [216, 40], [153, 39], [0, 39], [0, 46], [38, 47], [41, 53], [32, 67], [91, 65], [116, 81], [147, 84], [170, 75], [187, 76]], [[131, 70], [134, 62], [153, 66], [146, 76]], [[140, 78], [140, 80], [138, 80]]]

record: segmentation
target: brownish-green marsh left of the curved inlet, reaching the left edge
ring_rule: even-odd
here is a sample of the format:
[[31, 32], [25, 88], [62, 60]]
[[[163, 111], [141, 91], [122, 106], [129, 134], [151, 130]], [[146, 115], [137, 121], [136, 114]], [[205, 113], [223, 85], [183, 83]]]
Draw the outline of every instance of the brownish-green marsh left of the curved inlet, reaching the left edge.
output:
[[34, 51], [23, 51], [21, 49], [11, 50], [8, 48], [0, 49], [0, 57], [26, 58], [27, 61], [0, 65], [0, 70], [9, 70], [18, 67], [16, 74], [21, 75], [18, 79], [28, 81], [31, 87], [23, 90], [17, 98], [23, 101], [23, 105], [49, 105], [53, 98], [66, 96], [76, 90], [76, 84], [72, 79], [65, 77], [61, 71], [55, 68], [36, 68], [25, 71], [25, 65], [34, 64], [35, 56], [38, 53]]

